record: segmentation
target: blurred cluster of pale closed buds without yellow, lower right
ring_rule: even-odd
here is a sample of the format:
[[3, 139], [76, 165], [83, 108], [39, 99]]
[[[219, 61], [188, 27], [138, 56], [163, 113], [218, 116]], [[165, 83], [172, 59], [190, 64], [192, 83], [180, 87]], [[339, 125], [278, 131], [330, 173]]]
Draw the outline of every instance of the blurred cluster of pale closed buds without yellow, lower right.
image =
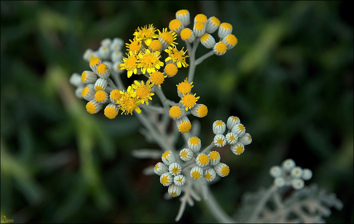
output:
[[270, 176], [274, 178], [274, 185], [278, 187], [292, 186], [296, 190], [301, 190], [305, 182], [312, 178], [312, 171], [310, 169], [302, 169], [296, 166], [295, 161], [286, 159], [280, 166], [272, 166], [269, 170]]

